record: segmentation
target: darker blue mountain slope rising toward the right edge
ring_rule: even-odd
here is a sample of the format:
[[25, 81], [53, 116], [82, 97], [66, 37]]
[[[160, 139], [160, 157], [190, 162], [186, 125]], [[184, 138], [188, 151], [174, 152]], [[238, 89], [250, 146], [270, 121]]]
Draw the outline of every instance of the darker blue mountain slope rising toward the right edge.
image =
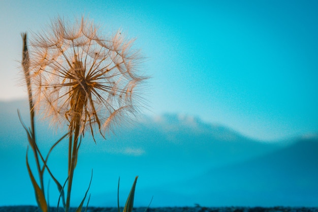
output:
[[201, 205], [316, 207], [318, 139], [299, 139], [274, 153], [211, 169], [169, 190]]

